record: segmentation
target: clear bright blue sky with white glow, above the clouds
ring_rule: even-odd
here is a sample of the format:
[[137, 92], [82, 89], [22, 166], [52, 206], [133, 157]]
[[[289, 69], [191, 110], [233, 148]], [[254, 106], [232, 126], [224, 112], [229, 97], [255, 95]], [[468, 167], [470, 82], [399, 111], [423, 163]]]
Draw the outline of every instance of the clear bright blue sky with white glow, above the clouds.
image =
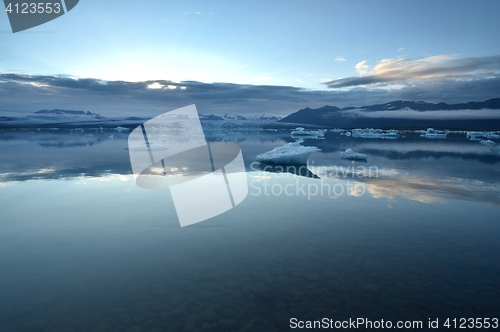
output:
[[87, 0], [17, 34], [3, 14], [0, 71], [324, 89], [386, 58], [498, 55], [498, 12], [498, 1]]

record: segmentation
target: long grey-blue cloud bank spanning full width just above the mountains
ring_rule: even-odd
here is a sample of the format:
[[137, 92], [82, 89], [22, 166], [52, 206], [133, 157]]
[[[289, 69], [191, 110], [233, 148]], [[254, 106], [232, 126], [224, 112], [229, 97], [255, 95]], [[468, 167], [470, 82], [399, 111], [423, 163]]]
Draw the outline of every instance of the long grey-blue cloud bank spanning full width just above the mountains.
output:
[[196, 104], [201, 113], [285, 116], [306, 107], [325, 105], [360, 106], [393, 100], [484, 101], [500, 97], [499, 91], [500, 76], [413, 81], [401, 84], [397, 89], [353, 86], [350, 89], [310, 90], [276, 85], [170, 80], [103, 81], [0, 73], [0, 110], [34, 112], [59, 108], [91, 111], [110, 117], [154, 116], [166, 110]]

